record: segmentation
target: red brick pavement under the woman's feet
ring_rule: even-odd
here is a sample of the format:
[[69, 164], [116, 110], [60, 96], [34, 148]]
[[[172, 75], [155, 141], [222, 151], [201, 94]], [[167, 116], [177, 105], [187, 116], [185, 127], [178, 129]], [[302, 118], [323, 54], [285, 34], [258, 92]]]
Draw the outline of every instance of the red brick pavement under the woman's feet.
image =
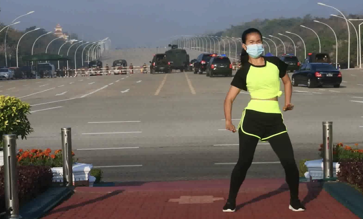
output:
[[300, 184], [307, 210], [289, 210], [283, 179], [246, 179], [237, 197], [237, 211], [222, 212], [228, 186], [227, 180], [214, 180], [77, 187], [44, 219], [359, 219], [313, 183]]

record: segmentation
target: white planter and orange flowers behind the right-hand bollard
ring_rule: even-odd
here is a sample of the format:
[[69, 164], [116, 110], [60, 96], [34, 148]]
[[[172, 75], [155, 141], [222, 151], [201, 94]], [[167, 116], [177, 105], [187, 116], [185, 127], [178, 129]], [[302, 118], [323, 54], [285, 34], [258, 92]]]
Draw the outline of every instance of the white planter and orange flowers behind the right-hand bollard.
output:
[[[308, 170], [308, 172], [305, 173], [306, 178], [323, 178], [323, 144], [320, 145], [319, 156], [321, 157], [321, 159], [319, 160], [311, 160], [305, 162], [305, 167]], [[354, 149], [348, 145], [344, 146], [343, 143], [333, 145], [333, 177], [339, 177], [340, 165], [342, 165], [343, 163], [345, 164], [347, 160], [350, 160], [350, 162], [363, 160], [363, 150], [358, 148], [358, 144], [355, 144]], [[305, 169], [305, 167], [300, 167], [300, 170]]]

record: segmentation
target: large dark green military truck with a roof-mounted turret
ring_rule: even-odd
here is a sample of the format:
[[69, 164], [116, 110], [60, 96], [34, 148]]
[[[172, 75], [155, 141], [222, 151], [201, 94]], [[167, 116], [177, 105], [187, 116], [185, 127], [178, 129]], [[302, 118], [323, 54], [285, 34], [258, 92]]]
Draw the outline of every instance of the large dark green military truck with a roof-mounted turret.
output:
[[178, 45], [170, 45], [170, 50], [167, 50], [165, 54], [167, 55], [167, 59], [170, 62], [171, 70], [180, 70], [183, 72], [184, 70], [188, 70], [189, 65], [189, 55], [185, 49], [178, 48]]

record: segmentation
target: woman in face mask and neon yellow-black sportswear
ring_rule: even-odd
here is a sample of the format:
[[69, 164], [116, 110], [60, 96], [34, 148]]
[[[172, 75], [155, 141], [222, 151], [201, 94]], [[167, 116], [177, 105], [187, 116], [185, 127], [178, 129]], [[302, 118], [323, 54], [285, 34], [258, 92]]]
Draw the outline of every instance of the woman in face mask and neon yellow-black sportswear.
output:
[[[283, 111], [293, 110], [292, 86], [286, 73], [287, 64], [278, 57], [262, 56], [262, 34], [250, 28], [242, 34], [241, 68], [236, 72], [224, 100], [226, 129], [239, 134], [239, 157], [231, 174], [231, 184], [224, 212], [236, 211], [236, 197], [247, 170], [252, 164], [259, 140], [268, 141], [279, 158], [290, 189], [292, 211], [305, 211], [299, 200], [299, 171], [295, 162], [293, 146], [278, 105], [280, 78], [284, 83], [285, 106]], [[238, 129], [232, 124], [232, 103], [241, 90], [249, 91], [251, 100], [243, 110]], [[261, 208], [262, 209], [262, 208]]]

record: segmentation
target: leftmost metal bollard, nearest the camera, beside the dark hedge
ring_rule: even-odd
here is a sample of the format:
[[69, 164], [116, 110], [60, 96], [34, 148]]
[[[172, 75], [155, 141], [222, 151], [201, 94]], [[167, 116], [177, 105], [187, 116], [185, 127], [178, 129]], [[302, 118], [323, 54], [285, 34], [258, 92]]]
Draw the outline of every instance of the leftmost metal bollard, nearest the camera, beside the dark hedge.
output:
[[3, 135], [4, 141], [4, 188], [8, 218], [19, 219], [19, 188], [16, 160], [16, 135]]

